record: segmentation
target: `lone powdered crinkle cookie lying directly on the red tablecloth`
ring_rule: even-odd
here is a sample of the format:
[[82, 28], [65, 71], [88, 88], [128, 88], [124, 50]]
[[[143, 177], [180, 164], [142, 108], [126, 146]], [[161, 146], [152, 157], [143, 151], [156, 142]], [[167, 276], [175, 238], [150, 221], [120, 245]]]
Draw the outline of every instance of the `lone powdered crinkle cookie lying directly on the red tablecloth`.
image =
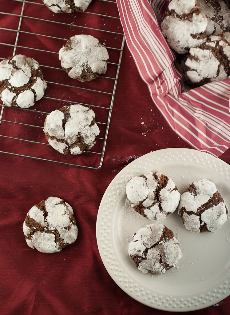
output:
[[27, 245], [42, 253], [60, 252], [78, 237], [72, 207], [57, 197], [42, 200], [29, 210], [23, 232]]

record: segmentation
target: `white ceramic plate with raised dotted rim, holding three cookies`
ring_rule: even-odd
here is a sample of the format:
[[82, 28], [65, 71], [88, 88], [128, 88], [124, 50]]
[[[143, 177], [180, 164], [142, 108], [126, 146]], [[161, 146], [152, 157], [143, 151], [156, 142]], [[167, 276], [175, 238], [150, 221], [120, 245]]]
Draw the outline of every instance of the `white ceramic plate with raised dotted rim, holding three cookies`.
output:
[[131, 162], [112, 180], [101, 200], [96, 223], [98, 249], [106, 270], [128, 295], [147, 306], [174, 312], [198, 310], [230, 295], [230, 221], [216, 233], [187, 231], [177, 210], [164, 225], [178, 239], [182, 258], [160, 276], [139, 271], [129, 258], [134, 232], [152, 221], [130, 208], [125, 186], [131, 177], [161, 171], [182, 193], [189, 183], [215, 182], [230, 209], [230, 166], [209, 153], [171, 148], [150, 152]]

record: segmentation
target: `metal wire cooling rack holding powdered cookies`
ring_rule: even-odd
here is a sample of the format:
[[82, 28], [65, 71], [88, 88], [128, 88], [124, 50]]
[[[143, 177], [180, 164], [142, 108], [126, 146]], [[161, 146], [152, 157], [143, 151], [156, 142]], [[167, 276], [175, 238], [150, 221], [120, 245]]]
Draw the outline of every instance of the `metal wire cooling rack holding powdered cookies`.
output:
[[[43, 98], [28, 109], [0, 104], [0, 153], [99, 169], [125, 41], [116, 1], [92, 0], [85, 12], [71, 14], [55, 14], [42, 0], [8, 0], [1, 3], [1, 10], [0, 61], [15, 54], [34, 58], [48, 87]], [[59, 49], [77, 34], [96, 37], [109, 53], [106, 74], [90, 82], [68, 77], [60, 66]], [[55, 151], [43, 132], [46, 115], [69, 104], [92, 108], [100, 129], [95, 146], [75, 156]]]

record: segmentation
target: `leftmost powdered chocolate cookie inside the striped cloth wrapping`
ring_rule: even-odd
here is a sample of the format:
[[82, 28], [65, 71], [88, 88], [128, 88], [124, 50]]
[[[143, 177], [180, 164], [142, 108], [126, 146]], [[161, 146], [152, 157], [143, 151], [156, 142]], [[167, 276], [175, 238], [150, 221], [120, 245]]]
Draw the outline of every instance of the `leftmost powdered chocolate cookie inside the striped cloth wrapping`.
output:
[[207, 39], [207, 24], [196, 0], [172, 0], [163, 15], [161, 30], [169, 46], [184, 54]]

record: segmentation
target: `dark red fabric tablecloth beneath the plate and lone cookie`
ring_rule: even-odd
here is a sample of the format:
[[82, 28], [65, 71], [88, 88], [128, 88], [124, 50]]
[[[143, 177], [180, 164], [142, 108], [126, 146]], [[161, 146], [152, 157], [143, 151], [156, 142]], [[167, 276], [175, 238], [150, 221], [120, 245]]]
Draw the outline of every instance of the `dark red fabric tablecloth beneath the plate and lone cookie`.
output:
[[[8, 1], [1, 0], [2, 11]], [[154, 106], [125, 46], [100, 169], [0, 154], [0, 314], [166, 314], [135, 301], [109, 276], [97, 247], [96, 218], [121, 169], [170, 147], [190, 148]], [[220, 158], [230, 163], [230, 150]], [[29, 248], [22, 231], [28, 210], [49, 196], [71, 204], [79, 229], [77, 241], [55, 254]], [[228, 315], [229, 305], [230, 297], [191, 314]]]

